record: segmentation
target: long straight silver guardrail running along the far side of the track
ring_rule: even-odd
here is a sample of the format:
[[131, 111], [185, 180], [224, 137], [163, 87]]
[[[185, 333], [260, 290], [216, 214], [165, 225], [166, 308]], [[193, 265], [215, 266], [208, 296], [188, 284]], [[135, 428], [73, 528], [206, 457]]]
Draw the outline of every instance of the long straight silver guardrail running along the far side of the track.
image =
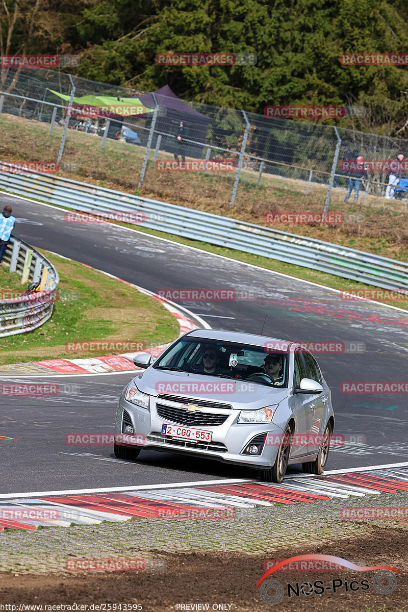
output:
[[229, 217], [46, 174], [0, 174], [0, 188], [75, 211], [142, 211], [143, 227], [278, 259], [394, 291], [408, 289], [408, 263]]

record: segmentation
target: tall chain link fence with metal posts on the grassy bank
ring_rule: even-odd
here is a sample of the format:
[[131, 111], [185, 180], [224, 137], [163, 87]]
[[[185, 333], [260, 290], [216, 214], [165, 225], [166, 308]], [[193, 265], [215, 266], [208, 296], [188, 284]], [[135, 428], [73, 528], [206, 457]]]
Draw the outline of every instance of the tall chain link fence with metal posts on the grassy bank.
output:
[[[61, 99], [53, 91], [67, 98]], [[118, 102], [137, 98], [146, 106], [146, 113], [135, 116], [109, 113], [105, 118], [92, 117], [92, 113], [86, 116], [86, 112], [81, 118], [67, 116], [69, 97], [75, 102], [87, 95], [109, 96]], [[89, 163], [105, 167], [106, 178], [113, 180], [120, 174], [120, 165], [124, 170], [126, 163], [132, 162], [132, 177], [138, 175], [138, 188], [144, 185], [145, 189], [152, 189], [160, 179], [165, 183], [165, 172], [158, 162], [174, 161], [175, 155], [181, 160], [231, 160], [233, 171], [229, 168], [222, 176], [217, 174], [213, 184], [217, 193], [228, 198], [231, 207], [236, 201], [248, 198], [254, 201], [261, 192], [267, 200], [269, 187], [308, 195], [313, 185], [327, 190], [326, 211], [333, 181], [346, 187], [347, 174], [339, 172], [345, 147], [357, 150], [364, 159], [395, 159], [400, 152], [408, 156], [407, 141], [401, 138], [187, 102], [172, 95], [166, 86], [151, 94], [46, 69], [3, 69], [0, 113], [46, 124], [44, 139], [50, 133], [54, 136], [61, 133], [61, 141], [54, 138], [46, 142], [48, 159], [58, 160], [65, 170], [75, 171], [84, 163], [81, 149], [86, 143], [75, 138], [73, 132], [83, 132], [86, 135], [83, 138], [93, 148], [92, 136], [102, 136], [100, 146], [106, 147], [114, 163], [103, 166], [101, 153], [100, 163], [95, 163], [95, 159]], [[185, 127], [181, 144], [176, 140], [180, 121]], [[127, 147], [124, 149], [121, 144]], [[202, 168], [198, 174], [209, 175], [208, 164], [198, 167]], [[180, 176], [182, 168], [178, 168]], [[184, 172], [183, 176], [188, 176], [193, 185], [195, 179], [191, 174]], [[367, 176], [360, 200], [365, 202], [368, 195], [384, 197], [388, 173], [368, 171]], [[407, 194], [408, 191], [402, 191], [401, 197]]]

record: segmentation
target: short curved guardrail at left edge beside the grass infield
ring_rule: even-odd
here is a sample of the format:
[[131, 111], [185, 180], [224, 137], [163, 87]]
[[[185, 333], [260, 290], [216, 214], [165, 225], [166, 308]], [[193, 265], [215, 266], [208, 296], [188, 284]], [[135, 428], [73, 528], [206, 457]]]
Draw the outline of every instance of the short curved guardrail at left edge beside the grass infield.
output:
[[[24, 284], [39, 282], [42, 291], [28, 296], [14, 296], [0, 300], [0, 338], [31, 332], [48, 321], [53, 314], [59, 276], [53, 264], [35, 248], [20, 238], [12, 236], [2, 261], [10, 266], [10, 272], [21, 272]], [[3, 294], [8, 292], [3, 292]], [[10, 294], [17, 293], [10, 291]]]

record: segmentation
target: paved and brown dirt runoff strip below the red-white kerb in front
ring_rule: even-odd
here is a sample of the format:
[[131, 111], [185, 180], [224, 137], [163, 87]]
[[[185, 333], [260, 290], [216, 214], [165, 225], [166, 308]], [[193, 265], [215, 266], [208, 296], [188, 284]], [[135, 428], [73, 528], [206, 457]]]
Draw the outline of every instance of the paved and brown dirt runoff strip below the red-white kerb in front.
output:
[[[88, 609], [92, 603], [105, 603], [106, 610], [108, 604], [119, 603], [132, 604], [136, 610], [141, 603], [144, 611], [152, 612], [205, 610], [194, 604], [207, 603], [209, 610], [269, 610], [273, 604], [264, 603], [255, 589], [265, 571], [264, 561], [319, 553], [358, 565], [395, 567], [401, 570], [397, 587], [391, 594], [379, 594], [373, 588], [374, 572], [275, 572], [273, 578], [284, 589], [288, 582], [331, 584], [339, 578], [343, 582], [368, 578], [371, 586], [346, 592], [343, 584], [335, 593], [285, 595], [278, 604], [280, 610], [407, 610], [408, 521], [343, 520], [339, 510], [346, 506], [405, 507], [407, 493], [237, 509], [236, 517], [229, 520], [136, 518], [35, 532], [4, 531], [0, 534], [0, 603], [17, 605], [17, 610], [20, 603], [74, 602]], [[145, 559], [146, 569], [67, 571], [67, 558]], [[187, 604], [192, 607], [180, 607]]]

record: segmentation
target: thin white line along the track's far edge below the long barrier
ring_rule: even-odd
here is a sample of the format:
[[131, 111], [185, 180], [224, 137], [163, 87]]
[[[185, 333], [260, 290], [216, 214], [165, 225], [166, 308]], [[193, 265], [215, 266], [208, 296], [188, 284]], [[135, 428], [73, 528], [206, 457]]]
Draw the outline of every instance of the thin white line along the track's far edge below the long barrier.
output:
[[[19, 198], [20, 200], [26, 200], [28, 202], [33, 202], [34, 204], [39, 204], [40, 206], [48, 206], [49, 208], [53, 208], [53, 209], [57, 209], [57, 211], [61, 211], [61, 212], [65, 212], [64, 208], [60, 208], [58, 206], [53, 206], [52, 204], [46, 204], [45, 202], [39, 202], [37, 200], [31, 200], [31, 198], [24, 198], [21, 195], [15, 195], [15, 193], [10, 193], [10, 192], [5, 192], [4, 190], [0, 190], [0, 193], [5, 193], [6, 195], [12, 197], [12, 198]], [[109, 225], [113, 226], [114, 228], [117, 228], [118, 226], [115, 223], [109, 223]], [[269, 270], [267, 268], [261, 267], [261, 266], [256, 266], [255, 264], [248, 264], [246, 261], [239, 261], [239, 259], [234, 259], [232, 257], [227, 257], [226, 255], [219, 255], [218, 253], [212, 253], [210, 251], [206, 251], [205, 249], [202, 248], [198, 248], [198, 247], [191, 247], [190, 245], [187, 244], [182, 244], [182, 242], [176, 242], [173, 240], [170, 240], [169, 238], [163, 238], [160, 236], [154, 236], [154, 234], [149, 234], [147, 232], [143, 232], [143, 231], [139, 231], [139, 230], [133, 230], [133, 228], [126, 228], [125, 226], [119, 226], [121, 228], [121, 230], [127, 230], [127, 231], [133, 231], [136, 234], [141, 234], [142, 236], [147, 236], [149, 238], [155, 239], [155, 240], [160, 240], [162, 242], [169, 242], [170, 244], [174, 244], [174, 245], [180, 245], [182, 247], [185, 248], [190, 248], [193, 251], [197, 251], [198, 253], [208, 253], [208, 255], [212, 255], [213, 257], [219, 257], [221, 259], [226, 259], [227, 261], [235, 261], [237, 264], [241, 264], [242, 266], [248, 266], [248, 267], [252, 267], [256, 270], [262, 270], [264, 272], [269, 272], [269, 274], [276, 274], [277, 276], [281, 276], [283, 278], [291, 278], [292, 280], [298, 280], [300, 283], [307, 283], [308, 285], [313, 285], [314, 287], [319, 287], [321, 289], [327, 289], [328, 291], [335, 291], [337, 294], [340, 293], [340, 289], [334, 289], [333, 287], [328, 287], [327, 285], [321, 285], [319, 283], [313, 283], [311, 280], [305, 280], [304, 278], [298, 278], [296, 276], [292, 276], [291, 274], [284, 274], [283, 272], [276, 272], [275, 270]], [[153, 230], [153, 231], [160, 231], [160, 230]], [[165, 230], [163, 230], [163, 232], [165, 233]], [[306, 238], [306, 236], [302, 236], [304, 238]], [[188, 238], [187, 240], [192, 240], [191, 238]], [[210, 243], [209, 243], [210, 245]], [[50, 251], [51, 253], [51, 251]], [[56, 255], [58, 255], [58, 253], [56, 253]], [[61, 255], [58, 255], [59, 257], [61, 257]], [[273, 261], [277, 261], [276, 259], [274, 259]], [[277, 261], [277, 263], [279, 263]], [[338, 277], [337, 277], [338, 278]], [[363, 298], [362, 298], [363, 299]], [[391, 306], [389, 304], [383, 304], [382, 302], [376, 302], [376, 300], [365, 300], [366, 302], [372, 302], [373, 304], [378, 304], [379, 306], [382, 306], [383, 308], [392, 308], [393, 310], [398, 310], [399, 312], [403, 312], [405, 314], [407, 314], [407, 310], [405, 310], [404, 308], [398, 308], [398, 306]]]

